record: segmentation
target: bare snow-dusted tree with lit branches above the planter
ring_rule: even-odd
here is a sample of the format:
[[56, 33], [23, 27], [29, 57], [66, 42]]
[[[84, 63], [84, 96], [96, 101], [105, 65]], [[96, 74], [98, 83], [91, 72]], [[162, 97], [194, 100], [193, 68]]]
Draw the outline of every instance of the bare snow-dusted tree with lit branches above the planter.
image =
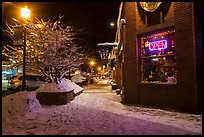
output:
[[[15, 24], [8, 24], [3, 34], [13, 40], [14, 27], [26, 28], [26, 71], [40, 70], [51, 82], [59, 83], [62, 77], [85, 61], [85, 50], [82, 48], [77, 31], [72, 26], [62, 25], [62, 16], [52, 23], [35, 18], [34, 20], [13, 19]], [[3, 46], [3, 55], [22, 66], [23, 48]]]

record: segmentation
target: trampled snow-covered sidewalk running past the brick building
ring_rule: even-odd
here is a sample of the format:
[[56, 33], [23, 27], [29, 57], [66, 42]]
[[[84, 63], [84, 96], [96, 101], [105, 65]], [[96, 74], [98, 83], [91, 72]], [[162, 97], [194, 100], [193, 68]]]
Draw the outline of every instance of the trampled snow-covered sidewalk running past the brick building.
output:
[[106, 83], [88, 85], [66, 105], [3, 119], [2, 134], [202, 135], [202, 115], [124, 105]]

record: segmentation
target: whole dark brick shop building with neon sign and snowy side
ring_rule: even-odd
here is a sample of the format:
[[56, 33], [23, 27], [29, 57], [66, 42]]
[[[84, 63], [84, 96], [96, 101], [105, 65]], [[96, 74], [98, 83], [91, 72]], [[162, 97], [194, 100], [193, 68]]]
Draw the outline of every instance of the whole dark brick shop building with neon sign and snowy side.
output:
[[124, 103], [202, 113], [201, 5], [121, 3], [111, 54]]

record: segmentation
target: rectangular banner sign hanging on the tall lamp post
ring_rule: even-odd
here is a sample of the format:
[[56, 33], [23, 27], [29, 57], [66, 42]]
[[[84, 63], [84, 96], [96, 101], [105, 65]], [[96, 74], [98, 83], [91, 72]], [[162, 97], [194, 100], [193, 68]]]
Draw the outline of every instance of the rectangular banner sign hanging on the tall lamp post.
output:
[[23, 45], [23, 27], [22, 26], [14, 27], [13, 44], [15, 46]]

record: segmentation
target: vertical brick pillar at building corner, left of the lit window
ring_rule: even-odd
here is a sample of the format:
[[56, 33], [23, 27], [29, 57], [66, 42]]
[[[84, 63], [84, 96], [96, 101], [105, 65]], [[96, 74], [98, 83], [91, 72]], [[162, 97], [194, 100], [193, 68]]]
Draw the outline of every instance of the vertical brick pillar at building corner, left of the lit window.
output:
[[[137, 62], [136, 62], [136, 3], [124, 5], [125, 45], [124, 45], [124, 94], [129, 103], [138, 102], [137, 97]], [[130, 12], [131, 11], [131, 12]]]

